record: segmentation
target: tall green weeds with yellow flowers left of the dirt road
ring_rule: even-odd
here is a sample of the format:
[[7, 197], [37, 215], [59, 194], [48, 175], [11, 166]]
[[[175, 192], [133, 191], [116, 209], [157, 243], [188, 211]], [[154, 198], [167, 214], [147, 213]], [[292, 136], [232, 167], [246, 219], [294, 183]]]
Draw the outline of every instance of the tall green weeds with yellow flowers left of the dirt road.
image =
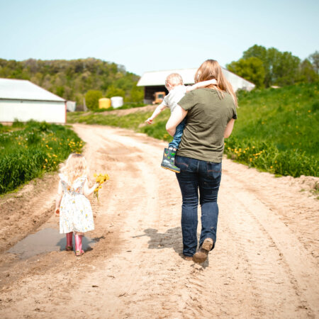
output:
[[55, 171], [70, 152], [83, 147], [77, 134], [62, 125], [16, 122], [0, 132], [0, 194]]

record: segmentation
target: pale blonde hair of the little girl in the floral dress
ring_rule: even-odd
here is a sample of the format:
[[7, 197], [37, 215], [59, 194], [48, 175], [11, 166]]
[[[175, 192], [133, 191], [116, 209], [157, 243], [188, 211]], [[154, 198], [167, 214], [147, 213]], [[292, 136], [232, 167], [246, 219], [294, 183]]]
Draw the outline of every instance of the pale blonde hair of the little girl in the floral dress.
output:
[[61, 172], [67, 177], [67, 182], [72, 185], [78, 178], [86, 174], [86, 159], [82, 154], [72, 153], [67, 158], [65, 167]]

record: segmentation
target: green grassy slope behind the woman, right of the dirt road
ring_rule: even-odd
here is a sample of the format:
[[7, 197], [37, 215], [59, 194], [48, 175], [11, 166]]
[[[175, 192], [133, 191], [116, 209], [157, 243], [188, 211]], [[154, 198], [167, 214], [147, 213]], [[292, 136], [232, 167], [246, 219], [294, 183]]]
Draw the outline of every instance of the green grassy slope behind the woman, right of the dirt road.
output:
[[[225, 154], [237, 162], [277, 175], [318, 177], [319, 84], [300, 84], [238, 94], [238, 119], [225, 140]], [[152, 112], [126, 116], [68, 113], [69, 123], [113, 125], [171, 140], [165, 130], [169, 111], [152, 125], [141, 125]]]

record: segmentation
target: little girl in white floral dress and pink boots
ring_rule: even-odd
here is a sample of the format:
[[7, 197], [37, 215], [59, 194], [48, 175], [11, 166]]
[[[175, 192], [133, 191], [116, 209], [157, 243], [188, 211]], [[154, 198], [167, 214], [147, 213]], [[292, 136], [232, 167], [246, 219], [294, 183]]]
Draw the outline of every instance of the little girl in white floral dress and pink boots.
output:
[[86, 196], [91, 195], [99, 186], [89, 188], [86, 177], [86, 160], [83, 155], [72, 153], [67, 164], [61, 169], [55, 215], [60, 215], [60, 233], [67, 234], [67, 251], [73, 250], [74, 232], [75, 255], [84, 254], [82, 250], [83, 233], [94, 230], [91, 204]]

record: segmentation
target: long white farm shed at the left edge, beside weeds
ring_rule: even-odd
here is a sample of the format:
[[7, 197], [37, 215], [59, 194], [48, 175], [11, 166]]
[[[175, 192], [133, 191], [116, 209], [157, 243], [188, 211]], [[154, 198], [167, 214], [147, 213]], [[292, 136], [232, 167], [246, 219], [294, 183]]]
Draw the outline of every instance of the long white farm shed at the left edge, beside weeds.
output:
[[65, 99], [27, 80], [0, 79], [0, 122], [65, 123]]

